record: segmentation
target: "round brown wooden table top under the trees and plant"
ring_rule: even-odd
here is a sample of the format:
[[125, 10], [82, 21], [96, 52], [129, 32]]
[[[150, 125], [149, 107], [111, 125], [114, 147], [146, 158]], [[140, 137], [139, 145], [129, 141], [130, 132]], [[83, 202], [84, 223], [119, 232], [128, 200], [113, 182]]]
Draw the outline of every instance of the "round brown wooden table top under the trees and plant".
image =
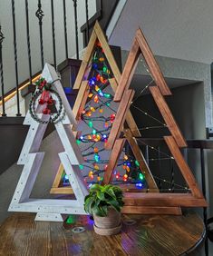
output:
[[205, 236], [203, 222], [193, 212], [123, 215], [122, 231], [114, 236], [94, 233], [89, 216], [73, 216], [72, 222], [85, 231], [74, 233], [62, 222], [34, 222], [32, 213], [15, 213], [0, 226], [0, 255], [181, 255], [196, 249]]

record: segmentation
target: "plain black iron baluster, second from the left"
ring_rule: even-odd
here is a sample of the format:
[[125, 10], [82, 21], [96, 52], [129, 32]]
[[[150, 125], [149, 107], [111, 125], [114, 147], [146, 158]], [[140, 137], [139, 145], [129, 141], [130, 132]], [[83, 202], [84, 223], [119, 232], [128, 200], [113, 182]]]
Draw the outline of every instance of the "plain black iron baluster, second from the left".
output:
[[15, 0], [11, 0], [12, 5], [12, 17], [13, 17], [13, 29], [14, 29], [14, 54], [15, 54], [15, 83], [16, 83], [16, 99], [17, 99], [17, 113], [16, 116], [21, 116], [19, 91], [18, 91], [18, 59], [17, 59], [17, 43], [16, 43], [16, 27], [15, 27]]

